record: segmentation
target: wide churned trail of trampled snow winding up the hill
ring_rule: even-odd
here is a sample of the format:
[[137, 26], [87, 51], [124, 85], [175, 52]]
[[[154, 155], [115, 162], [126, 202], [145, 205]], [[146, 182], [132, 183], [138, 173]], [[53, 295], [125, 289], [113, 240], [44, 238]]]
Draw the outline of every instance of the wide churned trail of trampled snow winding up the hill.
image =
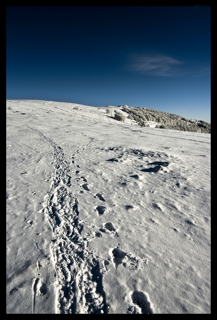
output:
[[[52, 148], [54, 176], [50, 192], [42, 204], [53, 230], [51, 250], [58, 274], [58, 309], [60, 313], [107, 313], [102, 286], [101, 261], [94, 257], [88, 238], [83, 239], [79, 221], [78, 199], [70, 192], [71, 172], [63, 151], [52, 139], [25, 124], [48, 141]], [[77, 150], [78, 153], [78, 150]], [[84, 178], [84, 177], [82, 177]], [[87, 190], [87, 185], [82, 187]], [[36, 287], [34, 283], [35, 306]]]

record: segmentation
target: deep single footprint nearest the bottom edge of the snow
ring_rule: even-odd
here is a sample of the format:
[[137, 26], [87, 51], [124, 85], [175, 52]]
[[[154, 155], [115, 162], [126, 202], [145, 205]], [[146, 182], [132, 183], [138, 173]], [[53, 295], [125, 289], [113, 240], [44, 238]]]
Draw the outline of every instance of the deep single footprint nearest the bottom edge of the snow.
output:
[[150, 302], [148, 293], [134, 290], [129, 293], [129, 300], [132, 300], [131, 306], [128, 308], [129, 313], [153, 314], [154, 307]]

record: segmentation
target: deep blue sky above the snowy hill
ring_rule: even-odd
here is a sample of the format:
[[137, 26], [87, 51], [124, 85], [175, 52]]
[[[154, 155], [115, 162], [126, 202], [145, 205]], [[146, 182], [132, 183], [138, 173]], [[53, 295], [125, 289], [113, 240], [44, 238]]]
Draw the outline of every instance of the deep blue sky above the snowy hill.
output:
[[8, 6], [6, 99], [211, 122], [210, 7]]

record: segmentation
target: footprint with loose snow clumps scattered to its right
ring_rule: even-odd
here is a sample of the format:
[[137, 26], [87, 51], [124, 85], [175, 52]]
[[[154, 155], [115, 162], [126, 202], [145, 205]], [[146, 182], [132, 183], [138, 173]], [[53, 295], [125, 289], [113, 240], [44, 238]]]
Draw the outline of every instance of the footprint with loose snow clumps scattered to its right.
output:
[[115, 268], [117, 268], [119, 264], [123, 264], [123, 266], [127, 269], [138, 270], [143, 268], [144, 263], [148, 263], [147, 259], [134, 257], [132, 253], [127, 253], [118, 246], [113, 250], [111, 249], [109, 254], [112, 258]]

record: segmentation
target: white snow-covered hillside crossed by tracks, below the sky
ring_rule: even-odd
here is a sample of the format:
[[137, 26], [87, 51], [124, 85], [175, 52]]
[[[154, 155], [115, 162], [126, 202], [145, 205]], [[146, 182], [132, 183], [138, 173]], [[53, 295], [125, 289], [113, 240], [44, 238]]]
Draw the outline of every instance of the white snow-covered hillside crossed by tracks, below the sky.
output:
[[210, 134], [107, 108], [7, 100], [6, 312], [208, 314]]

